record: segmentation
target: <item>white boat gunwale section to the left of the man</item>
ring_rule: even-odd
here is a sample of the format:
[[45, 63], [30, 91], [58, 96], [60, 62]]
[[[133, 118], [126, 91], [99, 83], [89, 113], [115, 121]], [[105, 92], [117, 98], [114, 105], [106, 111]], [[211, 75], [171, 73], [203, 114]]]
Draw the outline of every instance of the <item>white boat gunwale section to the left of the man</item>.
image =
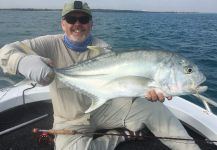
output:
[[[13, 81], [7, 79], [10, 83]], [[0, 113], [8, 109], [37, 101], [50, 99], [47, 86], [36, 86], [29, 81], [21, 81], [0, 90]], [[25, 97], [23, 97], [25, 95]]]

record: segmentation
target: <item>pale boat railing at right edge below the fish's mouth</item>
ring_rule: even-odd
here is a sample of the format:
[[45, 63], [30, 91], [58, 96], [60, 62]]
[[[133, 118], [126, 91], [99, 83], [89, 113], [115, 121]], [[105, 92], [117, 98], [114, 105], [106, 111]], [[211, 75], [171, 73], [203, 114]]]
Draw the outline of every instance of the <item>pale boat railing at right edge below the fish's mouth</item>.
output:
[[200, 94], [193, 94], [193, 95], [202, 101], [207, 112], [213, 113], [212, 109], [210, 108], [210, 105], [217, 108], [217, 102], [215, 102], [214, 100]]

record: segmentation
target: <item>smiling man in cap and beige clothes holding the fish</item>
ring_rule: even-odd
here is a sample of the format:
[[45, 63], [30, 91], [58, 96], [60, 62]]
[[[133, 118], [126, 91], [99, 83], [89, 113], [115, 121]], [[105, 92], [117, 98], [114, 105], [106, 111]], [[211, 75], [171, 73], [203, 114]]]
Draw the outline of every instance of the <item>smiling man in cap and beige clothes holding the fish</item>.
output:
[[[87, 3], [65, 3], [61, 26], [64, 34], [11, 43], [0, 51], [0, 65], [4, 72], [20, 73], [41, 85], [49, 84], [54, 109], [53, 129], [95, 132], [98, 129], [125, 127], [131, 131], [138, 131], [147, 126], [156, 136], [191, 138], [181, 123], [161, 103], [164, 96], [154, 90], [150, 90], [146, 96], [149, 101], [142, 98], [113, 99], [85, 114], [91, 100], [60, 83], [55, 78], [52, 67], [63, 68], [90, 59], [104, 53], [109, 45], [91, 35], [92, 13]], [[88, 45], [101, 47], [102, 50], [88, 50]], [[124, 140], [123, 136], [115, 135], [104, 135], [96, 139], [90, 134], [57, 135], [55, 148], [112, 150]], [[168, 140], [162, 142], [174, 150], [199, 150], [195, 143]]]

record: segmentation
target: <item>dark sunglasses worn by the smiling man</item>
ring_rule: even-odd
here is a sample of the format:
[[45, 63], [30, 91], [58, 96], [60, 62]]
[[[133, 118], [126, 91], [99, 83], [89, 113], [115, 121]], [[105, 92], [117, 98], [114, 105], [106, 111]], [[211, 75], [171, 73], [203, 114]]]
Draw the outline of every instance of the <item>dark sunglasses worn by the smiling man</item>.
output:
[[90, 22], [91, 17], [90, 16], [81, 16], [81, 17], [75, 17], [72, 15], [66, 15], [64, 17], [67, 23], [69, 24], [75, 24], [77, 21], [79, 21], [81, 24], [87, 24]]

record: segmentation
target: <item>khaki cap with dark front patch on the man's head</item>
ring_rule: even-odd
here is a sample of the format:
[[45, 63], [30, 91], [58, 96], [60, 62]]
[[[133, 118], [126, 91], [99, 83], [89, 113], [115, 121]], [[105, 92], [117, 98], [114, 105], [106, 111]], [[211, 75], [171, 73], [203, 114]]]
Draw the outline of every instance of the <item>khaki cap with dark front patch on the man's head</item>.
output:
[[84, 12], [92, 16], [90, 7], [86, 2], [69, 0], [64, 4], [62, 17], [70, 12]]

